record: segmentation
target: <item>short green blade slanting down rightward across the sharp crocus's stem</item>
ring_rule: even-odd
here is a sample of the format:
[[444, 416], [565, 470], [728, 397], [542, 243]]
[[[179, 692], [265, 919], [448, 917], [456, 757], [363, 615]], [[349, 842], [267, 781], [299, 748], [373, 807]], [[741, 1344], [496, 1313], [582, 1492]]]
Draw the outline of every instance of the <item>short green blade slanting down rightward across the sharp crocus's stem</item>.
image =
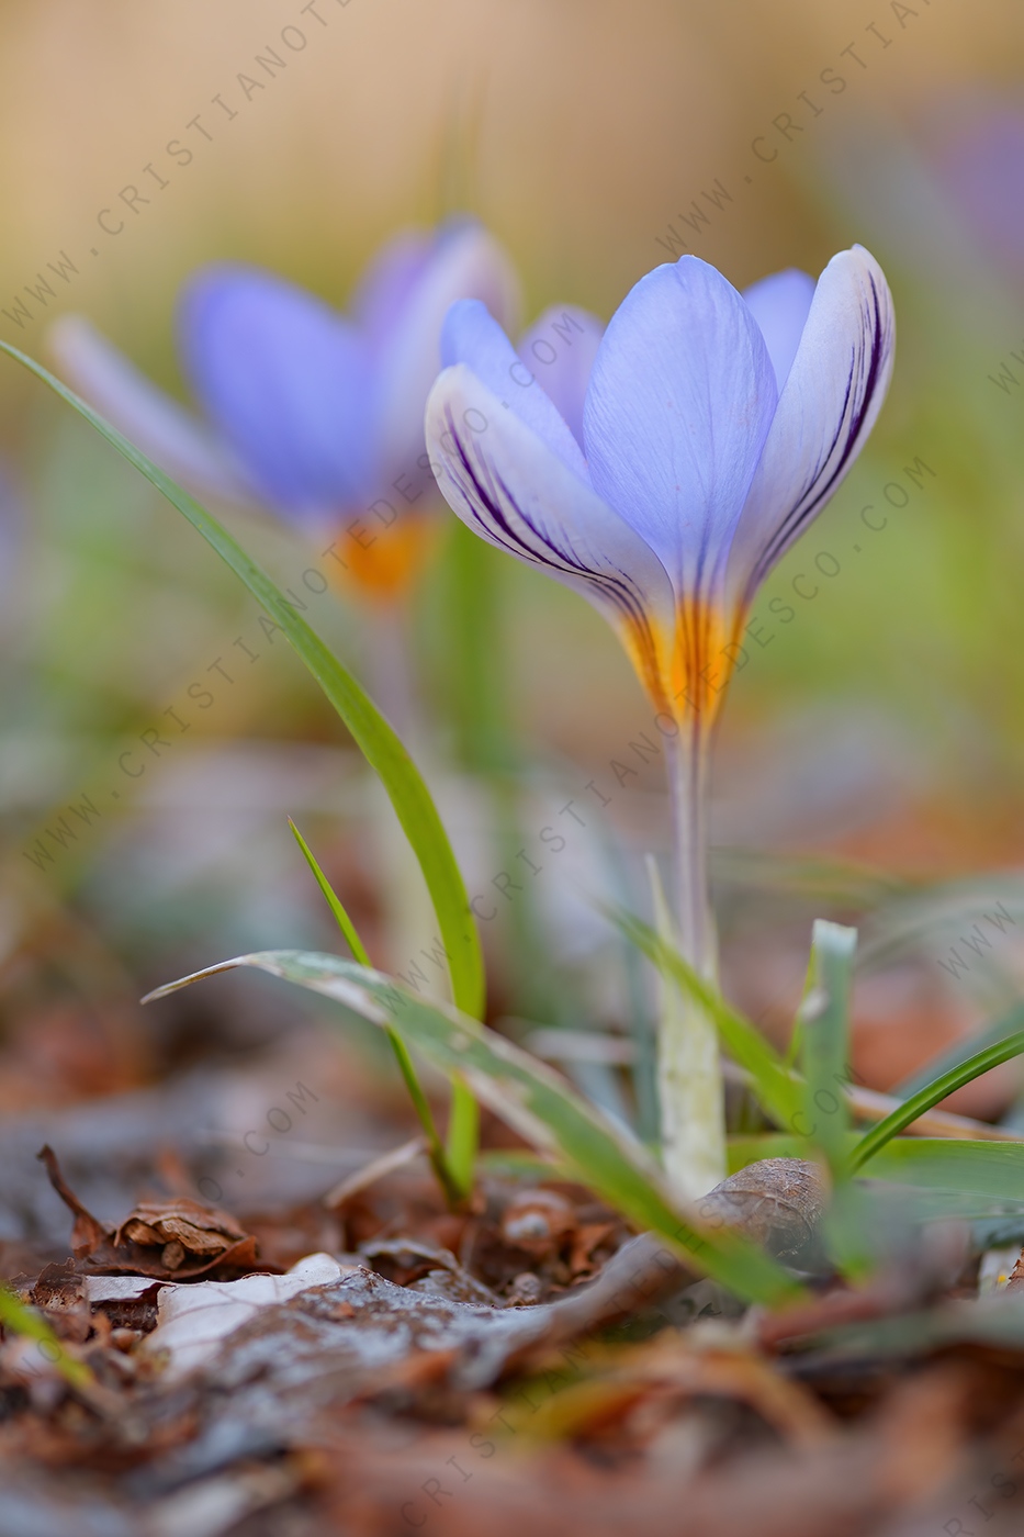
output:
[[721, 993], [698, 976], [680, 951], [641, 918], [623, 908], [604, 908], [604, 911], [620, 933], [643, 950], [664, 976], [707, 1010], [718, 1027], [724, 1050], [750, 1074], [752, 1090], [764, 1110], [781, 1128], [795, 1130], [803, 1111], [803, 1090], [775, 1047], [749, 1019], [730, 1008]]

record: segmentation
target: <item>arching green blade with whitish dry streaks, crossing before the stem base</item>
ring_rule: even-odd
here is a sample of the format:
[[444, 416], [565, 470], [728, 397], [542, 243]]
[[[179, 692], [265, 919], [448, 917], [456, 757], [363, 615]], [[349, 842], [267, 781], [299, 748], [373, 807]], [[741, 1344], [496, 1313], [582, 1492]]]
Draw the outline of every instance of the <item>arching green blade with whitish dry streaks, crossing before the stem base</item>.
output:
[[627, 1139], [543, 1062], [455, 1008], [420, 998], [391, 978], [337, 956], [274, 950], [209, 967], [157, 988], [149, 999], [238, 965], [257, 967], [334, 998], [380, 1027], [392, 1025], [406, 1045], [443, 1071], [460, 1070], [480, 1100], [534, 1147], [738, 1296], [770, 1305], [800, 1294], [776, 1260], [724, 1228], [721, 1217], [709, 1217], [701, 1225], [700, 1202], [690, 1213], [680, 1213], [640, 1144]]

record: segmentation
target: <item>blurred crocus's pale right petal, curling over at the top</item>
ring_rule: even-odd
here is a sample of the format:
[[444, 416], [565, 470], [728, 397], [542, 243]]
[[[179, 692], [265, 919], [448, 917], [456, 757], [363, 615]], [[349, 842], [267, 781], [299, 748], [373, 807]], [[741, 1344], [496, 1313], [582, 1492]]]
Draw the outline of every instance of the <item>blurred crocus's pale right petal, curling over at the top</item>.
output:
[[509, 326], [518, 312], [515, 272], [501, 246], [477, 223], [441, 229], [412, 284], [401, 324], [378, 354], [381, 475], [412, 475], [423, 455], [423, 407], [441, 367], [441, 326], [460, 298], [481, 300]]

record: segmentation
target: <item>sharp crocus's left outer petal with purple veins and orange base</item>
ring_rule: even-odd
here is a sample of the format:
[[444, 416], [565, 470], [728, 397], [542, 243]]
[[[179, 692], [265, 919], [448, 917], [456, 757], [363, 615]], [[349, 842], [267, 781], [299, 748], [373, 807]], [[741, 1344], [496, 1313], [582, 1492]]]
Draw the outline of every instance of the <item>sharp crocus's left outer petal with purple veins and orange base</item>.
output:
[[589, 598], [657, 693], [675, 609], [644, 539], [464, 363], [444, 369], [431, 390], [426, 438], [438, 486], [463, 523]]

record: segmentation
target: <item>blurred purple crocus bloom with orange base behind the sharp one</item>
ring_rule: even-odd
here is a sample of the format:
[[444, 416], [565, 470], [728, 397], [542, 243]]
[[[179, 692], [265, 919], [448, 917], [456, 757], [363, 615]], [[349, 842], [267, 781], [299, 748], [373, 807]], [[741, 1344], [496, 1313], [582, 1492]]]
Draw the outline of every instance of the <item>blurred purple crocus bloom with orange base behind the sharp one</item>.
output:
[[81, 317], [65, 317], [51, 338], [69, 381], [197, 495], [331, 530], [332, 558], [371, 596], [394, 598], [420, 564], [435, 498], [423, 404], [458, 298], [514, 320], [509, 261], [469, 220], [384, 246], [349, 315], [258, 267], [201, 267], [178, 306], [183, 372], [201, 417]]

